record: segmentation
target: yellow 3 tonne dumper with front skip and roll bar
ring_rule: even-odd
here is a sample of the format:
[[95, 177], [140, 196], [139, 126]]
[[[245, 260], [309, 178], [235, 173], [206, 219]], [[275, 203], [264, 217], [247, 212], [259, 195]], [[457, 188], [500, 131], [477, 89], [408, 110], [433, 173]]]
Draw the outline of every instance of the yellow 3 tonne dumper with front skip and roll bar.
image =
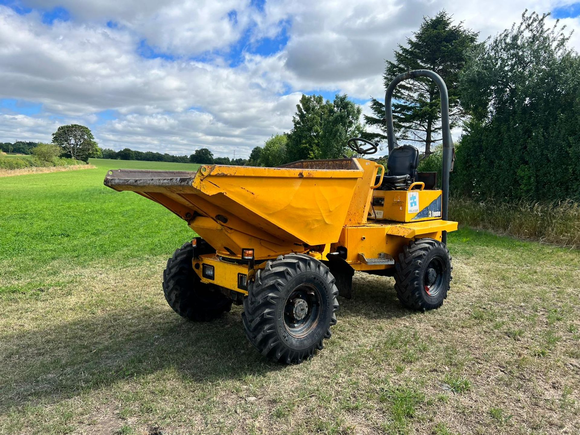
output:
[[[419, 152], [395, 146], [394, 87], [430, 77], [441, 93], [443, 180], [418, 173]], [[331, 336], [337, 296], [350, 298], [354, 271], [394, 276], [405, 307], [435, 309], [447, 297], [445, 238], [451, 135], [447, 89], [432, 71], [397, 77], [385, 97], [387, 168], [362, 158], [377, 144], [350, 139], [357, 157], [278, 168], [202, 165], [197, 172], [108, 171], [104, 184], [165, 206], [187, 222], [193, 241], [168, 260], [163, 289], [181, 316], [208, 321], [244, 306], [249, 341], [264, 356], [300, 362]]]

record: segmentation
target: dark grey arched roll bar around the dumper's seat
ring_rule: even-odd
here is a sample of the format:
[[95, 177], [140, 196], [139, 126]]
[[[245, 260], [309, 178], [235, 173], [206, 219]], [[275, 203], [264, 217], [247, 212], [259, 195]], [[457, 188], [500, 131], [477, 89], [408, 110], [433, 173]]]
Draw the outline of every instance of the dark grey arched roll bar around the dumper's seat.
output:
[[[441, 190], [443, 201], [441, 204], [441, 219], [448, 219], [449, 209], [449, 172], [451, 172], [452, 142], [451, 128], [449, 128], [449, 96], [447, 95], [447, 86], [441, 76], [430, 70], [414, 70], [398, 75], [390, 82], [385, 92], [385, 122], [387, 124], [387, 143], [389, 144], [389, 154], [395, 146], [395, 133], [393, 126], [393, 92], [400, 82], [415, 77], [429, 77], [432, 79], [441, 96], [441, 128], [443, 135], [443, 180], [441, 180]], [[447, 231], [443, 231], [441, 241], [447, 244]]]

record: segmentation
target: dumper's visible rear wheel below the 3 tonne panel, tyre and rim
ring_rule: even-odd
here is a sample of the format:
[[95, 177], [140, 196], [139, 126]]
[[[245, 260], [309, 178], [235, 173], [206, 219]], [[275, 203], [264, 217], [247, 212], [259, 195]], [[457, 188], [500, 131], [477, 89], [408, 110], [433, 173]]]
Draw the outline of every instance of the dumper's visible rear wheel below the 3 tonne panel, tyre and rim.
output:
[[395, 264], [395, 289], [405, 307], [433, 310], [447, 298], [451, 257], [440, 241], [421, 238], [403, 248]]

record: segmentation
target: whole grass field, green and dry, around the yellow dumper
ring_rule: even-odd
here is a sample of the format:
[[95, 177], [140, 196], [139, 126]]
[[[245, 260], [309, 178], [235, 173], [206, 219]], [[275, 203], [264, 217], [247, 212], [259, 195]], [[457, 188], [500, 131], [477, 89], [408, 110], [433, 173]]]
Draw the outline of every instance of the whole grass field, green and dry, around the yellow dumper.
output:
[[357, 274], [324, 351], [265, 361], [241, 308], [192, 324], [161, 292], [191, 238], [107, 169], [0, 179], [2, 434], [577, 434], [580, 253], [462, 229], [443, 307]]

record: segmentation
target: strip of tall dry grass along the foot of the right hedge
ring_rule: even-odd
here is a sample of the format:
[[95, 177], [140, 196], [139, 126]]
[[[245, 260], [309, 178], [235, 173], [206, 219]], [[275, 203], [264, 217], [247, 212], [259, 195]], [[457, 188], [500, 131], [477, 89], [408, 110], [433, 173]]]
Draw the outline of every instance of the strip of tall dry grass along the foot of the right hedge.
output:
[[554, 201], [550, 204], [519, 201], [476, 202], [453, 197], [449, 201], [451, 219], [470, 227], [539, 240], [565, 247], [580, 248], [580, 204]]

